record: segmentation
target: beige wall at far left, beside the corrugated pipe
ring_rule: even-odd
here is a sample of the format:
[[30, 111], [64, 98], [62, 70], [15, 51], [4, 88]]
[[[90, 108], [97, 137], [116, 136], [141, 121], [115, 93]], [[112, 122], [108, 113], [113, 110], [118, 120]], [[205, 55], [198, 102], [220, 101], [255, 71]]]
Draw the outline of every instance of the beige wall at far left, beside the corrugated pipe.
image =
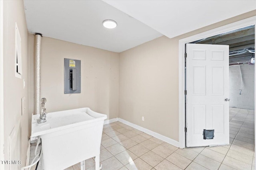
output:
[[[15, 77], [15, 22], [22, 40], [22, 79]], [[28, 30], [23, 1], [4, 1], [4, 160], [9, 160], [9, 135], [21, 125], [21, 161], [26, 163], [28, 149]], [[25, 113], [21, 115], [21, 99], [26, 97]], [[21, 141], [20, 141], [21, 140]], [[18, 148], [15, 148], [18, 152]], [[9, 165], [5, 165], [9, 169]], [[14, 168], [15, 169], [15, 168]]]

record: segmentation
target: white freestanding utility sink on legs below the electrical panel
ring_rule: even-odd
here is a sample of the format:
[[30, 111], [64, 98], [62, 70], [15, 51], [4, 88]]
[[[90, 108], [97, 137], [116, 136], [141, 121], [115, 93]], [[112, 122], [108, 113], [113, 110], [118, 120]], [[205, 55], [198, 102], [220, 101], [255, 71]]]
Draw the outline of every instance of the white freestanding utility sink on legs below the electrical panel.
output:
[[63, 170], [96, 156], [99, 169], [100, 142], [106, 115], [88, 107], [51, 112], [46, 122], [37, 123], [32, 115], [32, 137], [42, 140], [44, 170]]

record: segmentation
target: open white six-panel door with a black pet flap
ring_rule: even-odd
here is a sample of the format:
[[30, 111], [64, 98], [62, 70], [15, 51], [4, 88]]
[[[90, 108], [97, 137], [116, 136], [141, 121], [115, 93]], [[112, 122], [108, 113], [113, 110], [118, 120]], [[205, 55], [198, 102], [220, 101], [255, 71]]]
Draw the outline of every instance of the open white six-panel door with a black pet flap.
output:
[[229, 144], [229, 46], [186, 44], [186, 53], [186, 146]]

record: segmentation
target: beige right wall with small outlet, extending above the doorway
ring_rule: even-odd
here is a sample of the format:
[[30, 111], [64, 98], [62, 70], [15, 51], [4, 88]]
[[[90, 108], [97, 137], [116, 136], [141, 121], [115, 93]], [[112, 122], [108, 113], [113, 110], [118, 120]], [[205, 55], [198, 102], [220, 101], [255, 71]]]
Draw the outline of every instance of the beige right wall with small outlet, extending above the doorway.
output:
[[255, 14], [256, 10], [172, 39], [162, 36], [120, 53], [119, 117], [179, 141], [179, 39]]

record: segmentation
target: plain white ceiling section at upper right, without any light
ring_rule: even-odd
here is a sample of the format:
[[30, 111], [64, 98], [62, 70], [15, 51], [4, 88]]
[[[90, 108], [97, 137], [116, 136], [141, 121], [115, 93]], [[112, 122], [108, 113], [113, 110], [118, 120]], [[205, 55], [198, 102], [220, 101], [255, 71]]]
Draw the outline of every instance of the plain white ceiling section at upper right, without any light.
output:
[[256, 9], [256, 0], [103, 0], [169, 38]]

